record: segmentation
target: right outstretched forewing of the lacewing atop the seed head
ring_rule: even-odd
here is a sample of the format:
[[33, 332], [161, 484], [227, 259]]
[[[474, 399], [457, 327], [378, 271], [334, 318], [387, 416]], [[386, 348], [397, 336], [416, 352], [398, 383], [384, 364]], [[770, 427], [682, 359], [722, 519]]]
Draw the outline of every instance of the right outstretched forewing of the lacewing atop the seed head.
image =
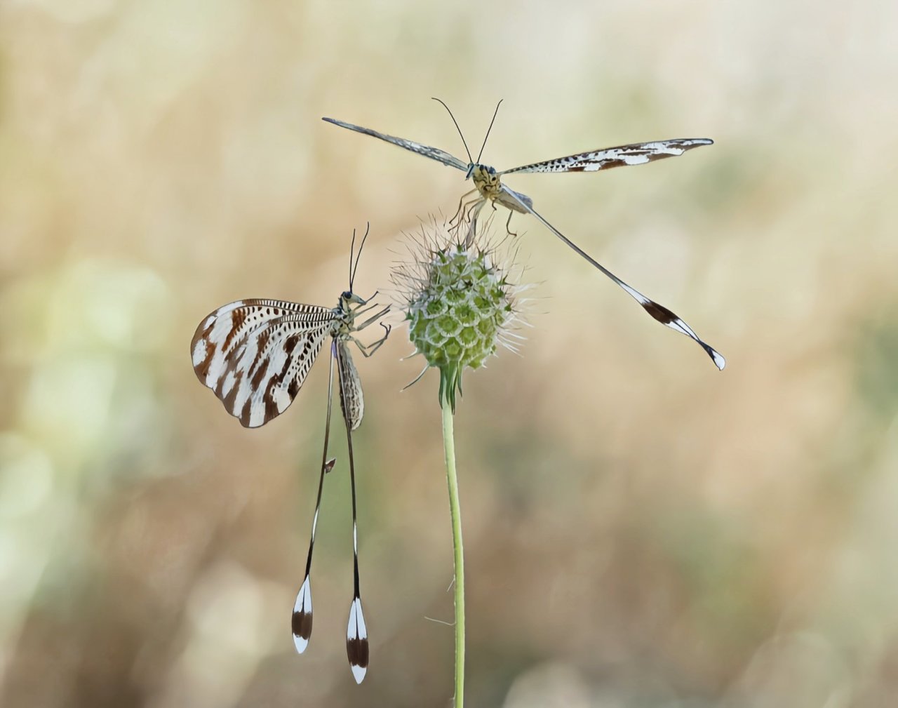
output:
[[612, 167], [626, 167], [630, 164], [645, 164], [665, 157], [677, 157], [693, 147], [713, 145], [707, 137], [682, 137], [674, 140], [659, 140], [655, 143], [635, 143], [605, 147], [588, 153], [578, 153], [541, 163], [525, 164], [499, 174], [511, 173], [594, 173]]

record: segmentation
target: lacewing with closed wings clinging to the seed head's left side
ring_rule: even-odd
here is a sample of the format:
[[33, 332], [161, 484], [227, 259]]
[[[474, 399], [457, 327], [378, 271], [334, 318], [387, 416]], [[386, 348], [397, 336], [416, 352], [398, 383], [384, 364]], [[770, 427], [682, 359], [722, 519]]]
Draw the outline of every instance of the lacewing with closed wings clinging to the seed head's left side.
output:
[[[219, 307], [199, 324], [190, 342], [193, 369], [199, 380], [215, 392], [231, 415], [240, 419], [247, 428], [258, 428], [285, 412], [295, 395], [299, 393], [305, 377], [330, 336], [330, 374], [328, 376], [328, 412], [324, 425], [324, 452], [321, 454], [321, 473], [318, 480], [318, 497], [312, 521], [309, 554], [305, 562], [303, 585], [296, 596], [293, 608], [293, 641], [296, 650], [303, 653], [312, 634], [312, 588], [309, 572], [312, 570], [312, 552], [315, 545], [315, 529], [321, 508], [321, 490], [324, 475], [335, 464], [328, 457], [330, 439], [330, 404], [333, 397], [333, 370], [337, 362], [339, 403], [346, 422], [349, 457], [349, 484], [352, 490], [352, 552], [353, 596], [349, 606], [347, 629], [347, 654], [349, 666], [357, 683], [365, 678], [368, 668], [368, 633], [365, 615], [362, 614], [362, 598], [358, 589], [358, 538], [356, 523], [356, 466], [352, 451], [352, 431], [362, 422], [365, 403], [362, 385], [348, 343], [355, 344], [365, 357], [378, 350], [390, 334], [390, 325], [381, 323], [383, 337], [370, 344], [356, 338], [356, 332], [377, 322], [390, 311], [387, 305], [378, 309], [372, 304], [373, 296], [363, 299], [353, 290], [358, 270], [358, 259], [365, 246], [368, 230], [358, 247], [356, 232], [352, 234], [349, 251], [349, 289], [339, 296], [336, 307], [300, 305], [284, 300], [238, 300]], [[373, 313], [373, 311], [376, 311]], [[373, 314], [372, 314], [373, 313]], [[369, 315], [361, 322], [357, 319]]]

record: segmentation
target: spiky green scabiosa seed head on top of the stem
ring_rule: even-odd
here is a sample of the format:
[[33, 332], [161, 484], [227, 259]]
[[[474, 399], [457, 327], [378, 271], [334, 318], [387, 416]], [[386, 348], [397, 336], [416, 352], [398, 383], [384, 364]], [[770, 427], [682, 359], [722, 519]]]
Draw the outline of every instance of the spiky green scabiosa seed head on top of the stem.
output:
[[415, 353], [440, 370], [440, 402], [445, 394], [453, 412], [464, 369], [482, 367], [499, 344], [516, 351], [521, 338], [512, 330], [523, 322], [524, 288], [509, 279], [511, 253], [491, 243], [485, 228], [470, 240], [454, 239], [435, 221], [412, 237], [410, 261], [392, 273]]

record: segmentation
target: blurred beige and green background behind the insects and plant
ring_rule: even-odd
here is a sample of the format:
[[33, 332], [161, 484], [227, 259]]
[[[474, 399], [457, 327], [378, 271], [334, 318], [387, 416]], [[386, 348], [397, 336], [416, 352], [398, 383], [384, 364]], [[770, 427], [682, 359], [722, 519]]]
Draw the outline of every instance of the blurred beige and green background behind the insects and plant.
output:
[[[519, 175], [522, 356], [456, 416], [468, 704], [894, 706], [898, 4], [836, 0], [0, 5], [0, 704], [448, 706], [437, 376], [357, 357], [371, 668], [356, 686], [345, 442], [296, 656], [326, 396], [242, 429], [190, 366], [211, 310], [390, 286], [462, 175], [669, 137], [633, 169]], [[501, 230], [505, 215], [497, 220]], [[389, 294], [387, 295], [389, 297]]]

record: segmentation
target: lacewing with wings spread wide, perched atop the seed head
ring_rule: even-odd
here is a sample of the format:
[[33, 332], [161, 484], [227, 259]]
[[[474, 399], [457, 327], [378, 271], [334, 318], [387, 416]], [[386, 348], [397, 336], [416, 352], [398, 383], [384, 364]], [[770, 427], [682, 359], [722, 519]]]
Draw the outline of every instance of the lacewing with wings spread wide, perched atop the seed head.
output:
[[[434, 99], [434, 101], [442, 103], [446, 111], [449, 111], [449, 107], [446, 106], [444, 102], [439, 99]], [[487, 137], [489, 137], [489, 131], [493, 128], [493, 123], [496, 121], [499, 105], [501, 105], [501, 103], [501, 101], [498, 102], [496, 112], [493, 113], [493, 119], [489, 122]], [[713, 349], [705, 341], [702, 341], [699, 335], [696, 334], [679, 316], [674, 314], [673, 311], [667, 309], [664, 305], [659, 305], [647, 296], [644, 296], [636, 288], [631, 288], [627, 283], [614, 275], [611, 270], [605, 268], [601, 263], [577, 246], [576, 243], [563, 235], [557, 228], [555, 228], [555, 226], [552, 226], [546, 221], [544, 217], [533, 209], [533, 199], [530, 199], [530, 197], [525, 194], [508, 188], [501, 181], [503, 175], [512, 173], [591, 173], [598, 172], [599, 170], [608, 170], [612, 167], [646, 164], [654, 162], [655, 160], [663, 160], [665, 157], [677, 157], [694, 147], [712, 145], [714, 143], [713, 140], [710, 140], [707, 137], [686, 137], [674, 138], [673, 140], [656, 140], [651, 143], [634, 143], [632, 145], [604, 147], [600, 150], [590, 150], [585, 153], [577, 153], [577, 155], [557, 157], [553, 160], [543, 160], [539, 163], [513, 167], [510, 170], [497, 171], [494, 168], [489, 167], [489, 165], [480, 163], [480, 157], [483, 155], [483, 147], [486, 146], [487, 137], [483, 138], [483, 144], [480, 146], [480, 154], [477, 155], [477, 160], [472, 160], [471, 151], [468, 149], [468, 145], [462, 135], [462, 129], [459, 128], [458, 122], [452, 115], [452, 111], [449, 111], [449, 115], [452, 117], [455, 128], [462, 137], [462, 144], [464, 144], [465, 152], [468, 154], [467, 163], [437, 147], [422, 145], [412, 140], [407, 140], [404, 137], [386, 135], [384, 133], [379, 133], [376, 130], [372, 130], [371, 128], [362, 128], [361, 126], [333, 118], [322, 118], [322, 120], [333, 123], [340, 128], [348, 128], [350, 130], [355, 130], [358, 133], [378, 137], [381, 140], [392, 143], [392, 145], [403, 147], [406, 150], [429, 157], [431, 160], [436, 160], [436, 162], [445, 164], [448, 167], [454, 167], [457, 170], [461, 170], [464, 173], [465, 180], [470, 179], [474, 182], [474, 189], [462, 196], [462, 199], [459, 202], [459, 210], [455, 217], [459, 219], [459, 225], [461, 225], [462, 220], [470, 222], [471, 227], [468, 231], [469, 245], [474, 234], [480, 209], [488, 203], [492, 204], [494, 209], [498, 204], [509, 210], [506, 230], [510, 226], [511, 217], [515, 212], [520, 214], [532, 214], [533, 217], [536, 217], [552, 234], [558, 236], [561, 241], [566, 243], [574, 252], [577, 252], [577, 254], [584, 258], [585, 261], [588, 261], [596, 269], [602, 271], [608, 278], [612, 279], [614, 283], [636, 300], [639, 305], [642, 305], [642, 308], [648, 314], [652, 315], [658, 322], [670, 327], [675, 332], [681, 332], [692, 340], [698, 342], [718, 369], [722, 370], [726, 366], [726, 359], [723, 355]], [[471, 197], [471, 195], [476, 196], [470, 201], [465, 202], [464, 199]]]

